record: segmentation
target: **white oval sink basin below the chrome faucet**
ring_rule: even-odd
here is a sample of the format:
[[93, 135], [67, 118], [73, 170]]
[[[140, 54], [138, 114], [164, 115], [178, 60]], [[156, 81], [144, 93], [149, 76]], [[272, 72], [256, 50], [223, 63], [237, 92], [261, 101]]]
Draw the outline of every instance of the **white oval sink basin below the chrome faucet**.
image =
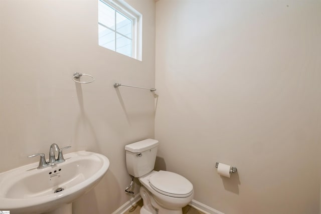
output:
[[109, 168], [108, 158], [94, 152], [64, 157], [65, 162], [44, 169], [37, 169], [37, 162], [0, 173], [0, 210], [11, 214], [52, 211], [91, 190]]

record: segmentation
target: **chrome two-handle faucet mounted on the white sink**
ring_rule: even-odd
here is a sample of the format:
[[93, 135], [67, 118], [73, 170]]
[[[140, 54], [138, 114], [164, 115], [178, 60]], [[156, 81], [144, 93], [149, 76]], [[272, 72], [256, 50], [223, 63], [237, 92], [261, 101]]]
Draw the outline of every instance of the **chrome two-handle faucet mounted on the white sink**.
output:
[[[38, 154], [33, 154], [28, 157], [35, 157], [35, 156], [40, 156], [40, 161], [37, 169], [43, 169], [48, 166], [53, 166], [58, 163], [65, 162], [64, 156], [62, 154], [63, 149], [68, 149], [71, 146], [66, 146], [61, 149], [59, 149], [59, 146], [56, 143], [51, 144], [50, 150], [49, 150], [49, 160], [48, 162], [46, 161], [45, 154], [44, 153], [38, 153]], [[56, 159], [55, 151], [58, 151], [58, 157]]]

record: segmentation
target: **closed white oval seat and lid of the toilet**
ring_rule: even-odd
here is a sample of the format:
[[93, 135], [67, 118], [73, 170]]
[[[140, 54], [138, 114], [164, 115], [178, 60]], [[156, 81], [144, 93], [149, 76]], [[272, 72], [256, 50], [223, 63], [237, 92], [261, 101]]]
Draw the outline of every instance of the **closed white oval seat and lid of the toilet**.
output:
[[170, 171], [158, 171], [149, 178], [149, 185], [158, 193], [171, 197], [188, 197], [193, 194], [193, 184]]

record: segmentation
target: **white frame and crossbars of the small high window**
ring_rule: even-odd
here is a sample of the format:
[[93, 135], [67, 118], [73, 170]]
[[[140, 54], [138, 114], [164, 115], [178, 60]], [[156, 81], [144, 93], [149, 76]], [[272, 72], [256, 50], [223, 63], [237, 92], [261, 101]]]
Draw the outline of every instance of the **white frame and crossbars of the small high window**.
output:
[[[116, 12], [120, 13], [121, 15], [127, 17], [132, 21], [132, 28], [131, 28], [131, 58], [134, 58], [136, 60], [141, 61], [141, 26], [142, 26], [142, 15], [136, 11], [133, 7], [128, 5], [125, 1], [123, 0], [98, 0], [109, 7], [113, 8]], [[116, 13], [115, 13], [116, 15]], [[116, 17], [115, 17], [116, 20]], [[107, 26], [101, 24], [98, 22], [99, 25], [115, 32], [115, 52], [116, 50], [116, 33], [120, 34], [119, 32], [116, 31], [116, 26], [115, 30], [108, 28]], [[121, 36], [129, 39], [123, 34], [120, 34]], [[118, 53], [118, 52], [117, 52]]]

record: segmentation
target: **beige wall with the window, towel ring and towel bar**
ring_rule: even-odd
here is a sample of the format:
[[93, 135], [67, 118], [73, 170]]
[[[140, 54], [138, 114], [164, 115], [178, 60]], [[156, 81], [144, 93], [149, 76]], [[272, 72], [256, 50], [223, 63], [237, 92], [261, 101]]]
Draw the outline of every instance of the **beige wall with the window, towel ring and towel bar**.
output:
[[[154, 1], [126, 2], [143, 15], [142, 62], [98, 46], [97, 0], [0, 1], [0, 172], [48, 158], [54, 142], [106, 155], [110, 168], [77, 214], [129, 199], [124, 145], [154, 134], [152, 93], [112, 85], [154, 87]], [[74, 72], [96, 80], [76, 84]]]

